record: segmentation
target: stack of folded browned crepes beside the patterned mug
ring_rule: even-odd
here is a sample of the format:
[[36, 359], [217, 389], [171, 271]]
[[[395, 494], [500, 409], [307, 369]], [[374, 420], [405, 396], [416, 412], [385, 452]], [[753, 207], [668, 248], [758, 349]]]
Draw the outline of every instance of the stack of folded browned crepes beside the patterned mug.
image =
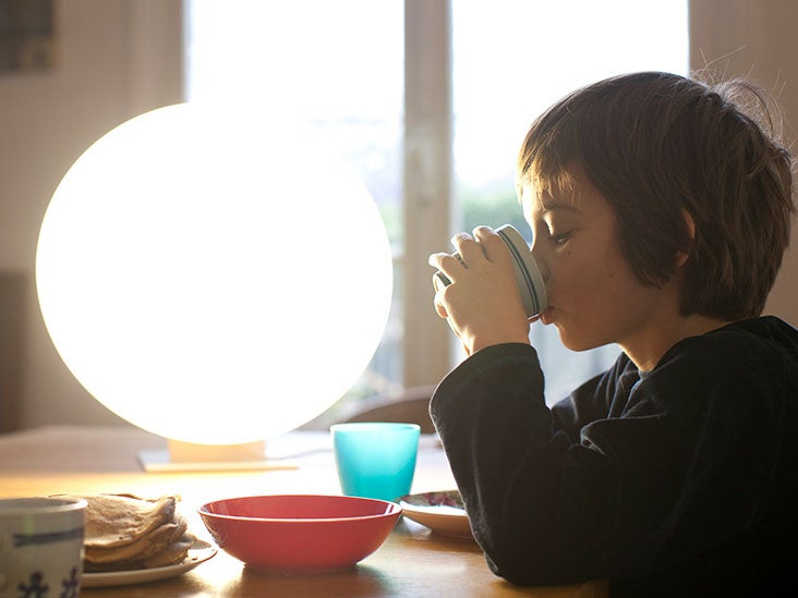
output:
[[84, 571], [154, 569], [183, 562], [196, 540], [178, 510], [177, 497], [62, 495], [84, 499]]

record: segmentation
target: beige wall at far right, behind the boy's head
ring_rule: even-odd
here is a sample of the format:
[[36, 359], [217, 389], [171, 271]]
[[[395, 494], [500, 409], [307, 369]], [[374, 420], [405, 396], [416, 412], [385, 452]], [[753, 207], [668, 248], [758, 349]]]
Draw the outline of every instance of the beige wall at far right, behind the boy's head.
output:
[[[748, 76], [773, 90], [785, 112], [794, 154], [798, 127], [798, 2], [794, 0], [691, 0], [690, 68]], [[798, 225], [765, 307], [798, 326]]]

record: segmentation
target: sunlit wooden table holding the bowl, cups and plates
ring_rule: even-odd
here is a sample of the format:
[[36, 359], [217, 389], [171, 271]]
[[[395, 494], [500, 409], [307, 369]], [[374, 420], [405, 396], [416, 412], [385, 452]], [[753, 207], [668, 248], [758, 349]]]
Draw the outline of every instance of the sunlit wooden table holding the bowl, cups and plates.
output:
[[[0, 496], [59, 492], [180, 495], [192, 530], [209, 536], [195, 510], [234, 496], [340, 493], [326, 432], [292, 432], [267, 446], [267, 455], [298, 447], [295, 469], [226, 473], [144, 473], [136, 452], [162, 449], [164, 439], [129, 427], [53, 426], [0, 435]], [[423, 437], [413, 492], [455, 487], [446, 456], [434, 437]], [[84, 588], [84, 596], [537, 596], [600, 598], [604, 582], [570, 586], [516, 587], [488, 570], [471, 540], [432, 533], [401, 518], [387, 541], [346, 572], [319, 575], [269, 575], [247, 570], [223, 550], [191, 572], [148, 584]]]

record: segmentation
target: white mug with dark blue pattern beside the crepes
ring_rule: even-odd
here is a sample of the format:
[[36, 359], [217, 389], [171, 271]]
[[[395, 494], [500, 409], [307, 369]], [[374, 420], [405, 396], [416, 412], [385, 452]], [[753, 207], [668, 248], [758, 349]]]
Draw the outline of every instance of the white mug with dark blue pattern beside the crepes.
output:
[[0, 597], [81, 593], [86, 501], [0, 499]]

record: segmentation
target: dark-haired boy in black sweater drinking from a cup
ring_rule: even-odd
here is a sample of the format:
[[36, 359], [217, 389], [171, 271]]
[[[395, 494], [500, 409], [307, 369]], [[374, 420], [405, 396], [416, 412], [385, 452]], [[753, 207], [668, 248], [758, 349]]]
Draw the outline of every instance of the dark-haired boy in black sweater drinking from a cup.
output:
[[793, 162], [767, 110], [745, 82], [636, 73], [532, 125], [517, 172], [540, 320], [571, 350], [622, 350], [551, 410], [503, 241], [481, 227], [452, 240], [462, 261], [431, 256], [469, 355], [431, 414], [496, 574], [646, 597], [766, 596], [791, 576], [798, 331], [760, 314]]

